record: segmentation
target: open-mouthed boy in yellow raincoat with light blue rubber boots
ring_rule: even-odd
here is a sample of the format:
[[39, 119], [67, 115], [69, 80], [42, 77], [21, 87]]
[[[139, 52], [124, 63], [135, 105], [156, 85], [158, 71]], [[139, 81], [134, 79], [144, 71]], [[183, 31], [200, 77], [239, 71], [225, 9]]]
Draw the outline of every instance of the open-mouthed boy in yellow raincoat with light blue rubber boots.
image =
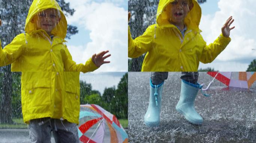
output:
[[[131, 13], [128, 13], [128, 20]], [[135, 58], [147, 52], [141, 71], [197, 71], [199, 61], [211, 63], [231, 41], [229, 28], [232, 16], [222, 27], [222, 34], [210, 45], [200, 35], [201, 8], [196, 0], [160, 0], [156, 24], [150, 25], [143, 35], [131, 38], [128, 27], [128, 57]], [[183, 72], [180, 101], [176, 109], [193, 124], [202, 118], [195, 111], [194, 101], [200, 86], [198, 73]], [[197, 76], [195, 76], [197, 75]], [[150, 102], [144, 123], [155, 126], [160, 121], [161, 91], [167, 72], [152, 73]], [[193, 81], [193, 82], [191, 82]]]

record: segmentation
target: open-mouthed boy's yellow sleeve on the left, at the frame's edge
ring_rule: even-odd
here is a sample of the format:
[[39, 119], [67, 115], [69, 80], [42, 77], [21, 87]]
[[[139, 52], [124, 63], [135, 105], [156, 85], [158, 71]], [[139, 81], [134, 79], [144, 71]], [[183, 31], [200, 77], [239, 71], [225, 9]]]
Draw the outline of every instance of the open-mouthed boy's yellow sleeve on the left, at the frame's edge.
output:
[[152, 47], [154, 28], [149, 26], [143, 35], [132, 39], [130, 27], [128, 26], [128, 57], [137, 58], [149, 51]]

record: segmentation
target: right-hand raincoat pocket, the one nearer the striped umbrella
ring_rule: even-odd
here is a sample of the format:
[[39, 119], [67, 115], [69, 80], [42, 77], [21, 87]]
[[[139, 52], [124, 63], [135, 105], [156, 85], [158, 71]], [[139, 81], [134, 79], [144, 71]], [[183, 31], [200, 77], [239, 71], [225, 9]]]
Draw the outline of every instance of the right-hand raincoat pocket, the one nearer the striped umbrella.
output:
[[[65, 110], [69, 112], [79, 113], [80, 110], [80, 87], [71, 84], [65, 88]], [[78, 114], [79, 115], [79, 114]]]

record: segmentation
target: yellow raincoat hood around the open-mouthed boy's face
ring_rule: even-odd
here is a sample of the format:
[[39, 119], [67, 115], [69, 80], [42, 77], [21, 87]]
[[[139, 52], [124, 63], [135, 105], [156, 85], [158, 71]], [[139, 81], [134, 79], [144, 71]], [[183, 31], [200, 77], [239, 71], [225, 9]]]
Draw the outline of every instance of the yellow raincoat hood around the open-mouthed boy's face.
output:
[[[157, 14], [156, 14], [156, 23], [160, 27], [164, 27], [166, 25], [170, 25], [170, 12], [171, 7], [170, 3], [174, 0], [160, 0], [158, 4]], [[196, 0], [192, 0], [194, 6], [191, 11], [186, 16], [184, 22], [187, 27], [190, 29], [199, 29], [199, 23], [201, 20], [201, 7], [199, 6]]]

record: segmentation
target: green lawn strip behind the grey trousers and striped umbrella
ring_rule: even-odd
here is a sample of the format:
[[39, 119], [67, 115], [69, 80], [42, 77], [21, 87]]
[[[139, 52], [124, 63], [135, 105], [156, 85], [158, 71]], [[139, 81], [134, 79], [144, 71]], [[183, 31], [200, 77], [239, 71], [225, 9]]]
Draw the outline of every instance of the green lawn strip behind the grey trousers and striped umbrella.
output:
[[[0, 128], [28, 128], [27, 124], [23, 122], [22, 118], [13, 118], [12, 121], [14, 124], [0, 124]], [[118, 121], [123, 126], [123, 128], [128, 128], [128, 119], [119, 119]]]

